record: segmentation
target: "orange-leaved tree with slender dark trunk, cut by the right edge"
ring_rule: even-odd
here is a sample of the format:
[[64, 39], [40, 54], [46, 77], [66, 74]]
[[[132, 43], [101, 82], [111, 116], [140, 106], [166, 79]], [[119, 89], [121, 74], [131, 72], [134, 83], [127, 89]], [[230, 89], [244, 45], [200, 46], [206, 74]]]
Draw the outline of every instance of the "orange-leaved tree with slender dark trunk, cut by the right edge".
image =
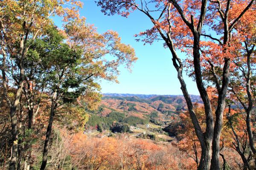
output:
[[[250, 20], [247, 20], [250, 18]], [[255, 139], [253, 137], [252, 120], [253, 109], [255, 109], [256, 93], [255, 93], [255, 77], [256, 77], [256, 61], [255, 61], [255, 45], [256, 32], [255, 10], [250, 10], [235, 27], [239, 34], [234, 35], [234, 43], [237, 43], [237, 48], [233, 52], [233, 71], [230, 79], [230, 99], [233, 103], [242, 106], [246, 113], [246, 130], [249, 138], [249, 146], [253, 155], [256, 154]], [[246, 24], [245, 24], [246, 23]], [[254, 116], [254, 115], [253, 115]], [[236, 136], [235, 132], [234, 135]], [[241, 155], [241, 154], [240, 154]], [[254, 158], [254, 166], [256, 166], [256, 159]], [[252, 169], [247, 166], [248, 169]]]

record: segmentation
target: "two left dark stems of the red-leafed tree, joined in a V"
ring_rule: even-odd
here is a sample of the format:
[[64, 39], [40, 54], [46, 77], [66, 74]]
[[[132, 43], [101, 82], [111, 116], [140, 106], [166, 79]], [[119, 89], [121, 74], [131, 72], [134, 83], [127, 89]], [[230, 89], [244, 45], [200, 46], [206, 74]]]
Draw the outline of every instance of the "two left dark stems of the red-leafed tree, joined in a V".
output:
[[[206, 4], [202, 4], [202, 5], [205, 8]], [[172, 52], [172, 57], [173, 57], [172, 62], [177, 70], [177, 76], [180, 81], [181, 90], [182, 90], [183, 96], [186, 100], [186, 104], [187, 104], [187, 107], [189, 110], [189, 115], [192, 120], [192, 124], [195, 128], [196, 136], [198, 137], [198, 140], [201, 145], [201, 159], [199, 162], [198, 170], [208, 170], [210, 167], [210, 161], [211, 161], [211, 145], [212, 145], [212, 137], [213, 137], [213, 135], [212, 135], [212, 133], [213, 133], [213, 117], [212, 117], [212, 110], [211, 110], [209, 98], [208, 98], [207, 92], [204, 88], [202, 77], [201, 77], [200, 53], [199, 53], [200, 34], [198, 34], [198, 32], [196, 32], [196, 34], [195, 34], [196, 37], [194, 38], [193, 54], [194, 54], [194, 65], [196, 63], [195, 72], [197, 75], [196, 81], [197, 81], [197, 85], [198, 85], [198, 90], [200, 92], [201, 98], [204, 101], [204, 106], [205, 106], [205, 114], [206, 114], [206, 119], [207, 119], [207, 128], [206, 128], [207, 135], [204, 135], [203, 131], [201, 130], [198, 119], [193, 110], [192, 101], [191, 101], [189, 93], [186, 89], [186, 83], [185, 83], [185, 81], [183, 79], [183, 75], [182, 75], [183, 63], [181, 62], [180, 58], [176, 54], [174, 43], [171, 38], [171, 23], [170, 23], [170, 11], [169, 10], [170, 10], [170, 6], [168, 8], [168, 13], [169, 13], [168, 21], [169, 21], [169, 25], [170, 25], [169, 32], [167, 34], [168, 39], [161, 33], [160, 30], [159, 30], [159, 32], [160, 32], [160, 35], [163, 38], [163, 40], [166, 41], [166, 44], [168, 45], [170, 51]], [[201, 18], [201, 22], [203, 22], [203, 18], [204, 17]]]

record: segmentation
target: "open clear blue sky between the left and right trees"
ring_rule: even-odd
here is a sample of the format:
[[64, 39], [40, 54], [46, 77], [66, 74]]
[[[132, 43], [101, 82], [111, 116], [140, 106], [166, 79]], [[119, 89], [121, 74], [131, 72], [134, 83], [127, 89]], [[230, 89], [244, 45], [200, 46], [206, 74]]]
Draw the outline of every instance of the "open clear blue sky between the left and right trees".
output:
[[[87, 18], [87, 23], [94, 24], [99, 33], [107, 30], [117, 31], [122, 42], [130, 44], [138, 57], [130, 73], [120, 68], [119, 84], [102, 81], [102, 93], [129, 93], [129, 94], [182, 94], [177, 72], [172, 65], [172, 55], [169, 49], [163, 48], [163, 41], [153, 45], [143, 45], [137, 42], [134, 34], [152, 27], [151, 21], [139, 11], [135, 11], [128, 18], [106, 16], [101, 13], [100, 7], [93, 0], [82, 0], [81, 16]], [[180, 54], [182, 58], [183, 54]], [[189, 94], [198, 95], [198, 89], [192, 78], [184, 79]]]

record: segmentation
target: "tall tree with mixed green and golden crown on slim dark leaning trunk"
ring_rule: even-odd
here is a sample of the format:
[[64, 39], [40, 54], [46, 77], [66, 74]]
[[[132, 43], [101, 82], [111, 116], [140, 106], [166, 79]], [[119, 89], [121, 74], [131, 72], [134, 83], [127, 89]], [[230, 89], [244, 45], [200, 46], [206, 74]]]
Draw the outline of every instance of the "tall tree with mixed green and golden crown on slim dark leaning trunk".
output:
[[97, 82], [117, 81], [118, 67], [125, 64], [131, 68], [137, 59], [134, 49], [123, 44], [116, 32], [99, 34], [84, 18], [69, 21], [64, 32], [50, 28], [46, 33], [30, 47], [27, 67], [34, 76], [32, 84], [42, 89], [37, 93], [50, 97], [42, 170], [47, 165], [55, 115], [74, 105], [93, 109], [100, 100]]

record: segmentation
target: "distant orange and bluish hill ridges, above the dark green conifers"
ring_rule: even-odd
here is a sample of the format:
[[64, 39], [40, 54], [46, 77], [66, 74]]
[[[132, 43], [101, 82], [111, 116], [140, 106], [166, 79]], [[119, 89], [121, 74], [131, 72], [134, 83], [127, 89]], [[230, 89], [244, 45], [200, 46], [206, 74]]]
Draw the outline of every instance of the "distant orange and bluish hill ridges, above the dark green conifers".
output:
[[[156, 94], [102, 94], [99, 109], [94, 112], [98, 116], [108, 117], [110, 113], [120, 113], [128, 117], [149, 119], [152, 113], [157, 114], [157, 122], [172, 122], [179, 119], [179, 113], [187, 110], [182, 95]], [[191, 95], [192, 102], [202, 103], [201, 97]]]

